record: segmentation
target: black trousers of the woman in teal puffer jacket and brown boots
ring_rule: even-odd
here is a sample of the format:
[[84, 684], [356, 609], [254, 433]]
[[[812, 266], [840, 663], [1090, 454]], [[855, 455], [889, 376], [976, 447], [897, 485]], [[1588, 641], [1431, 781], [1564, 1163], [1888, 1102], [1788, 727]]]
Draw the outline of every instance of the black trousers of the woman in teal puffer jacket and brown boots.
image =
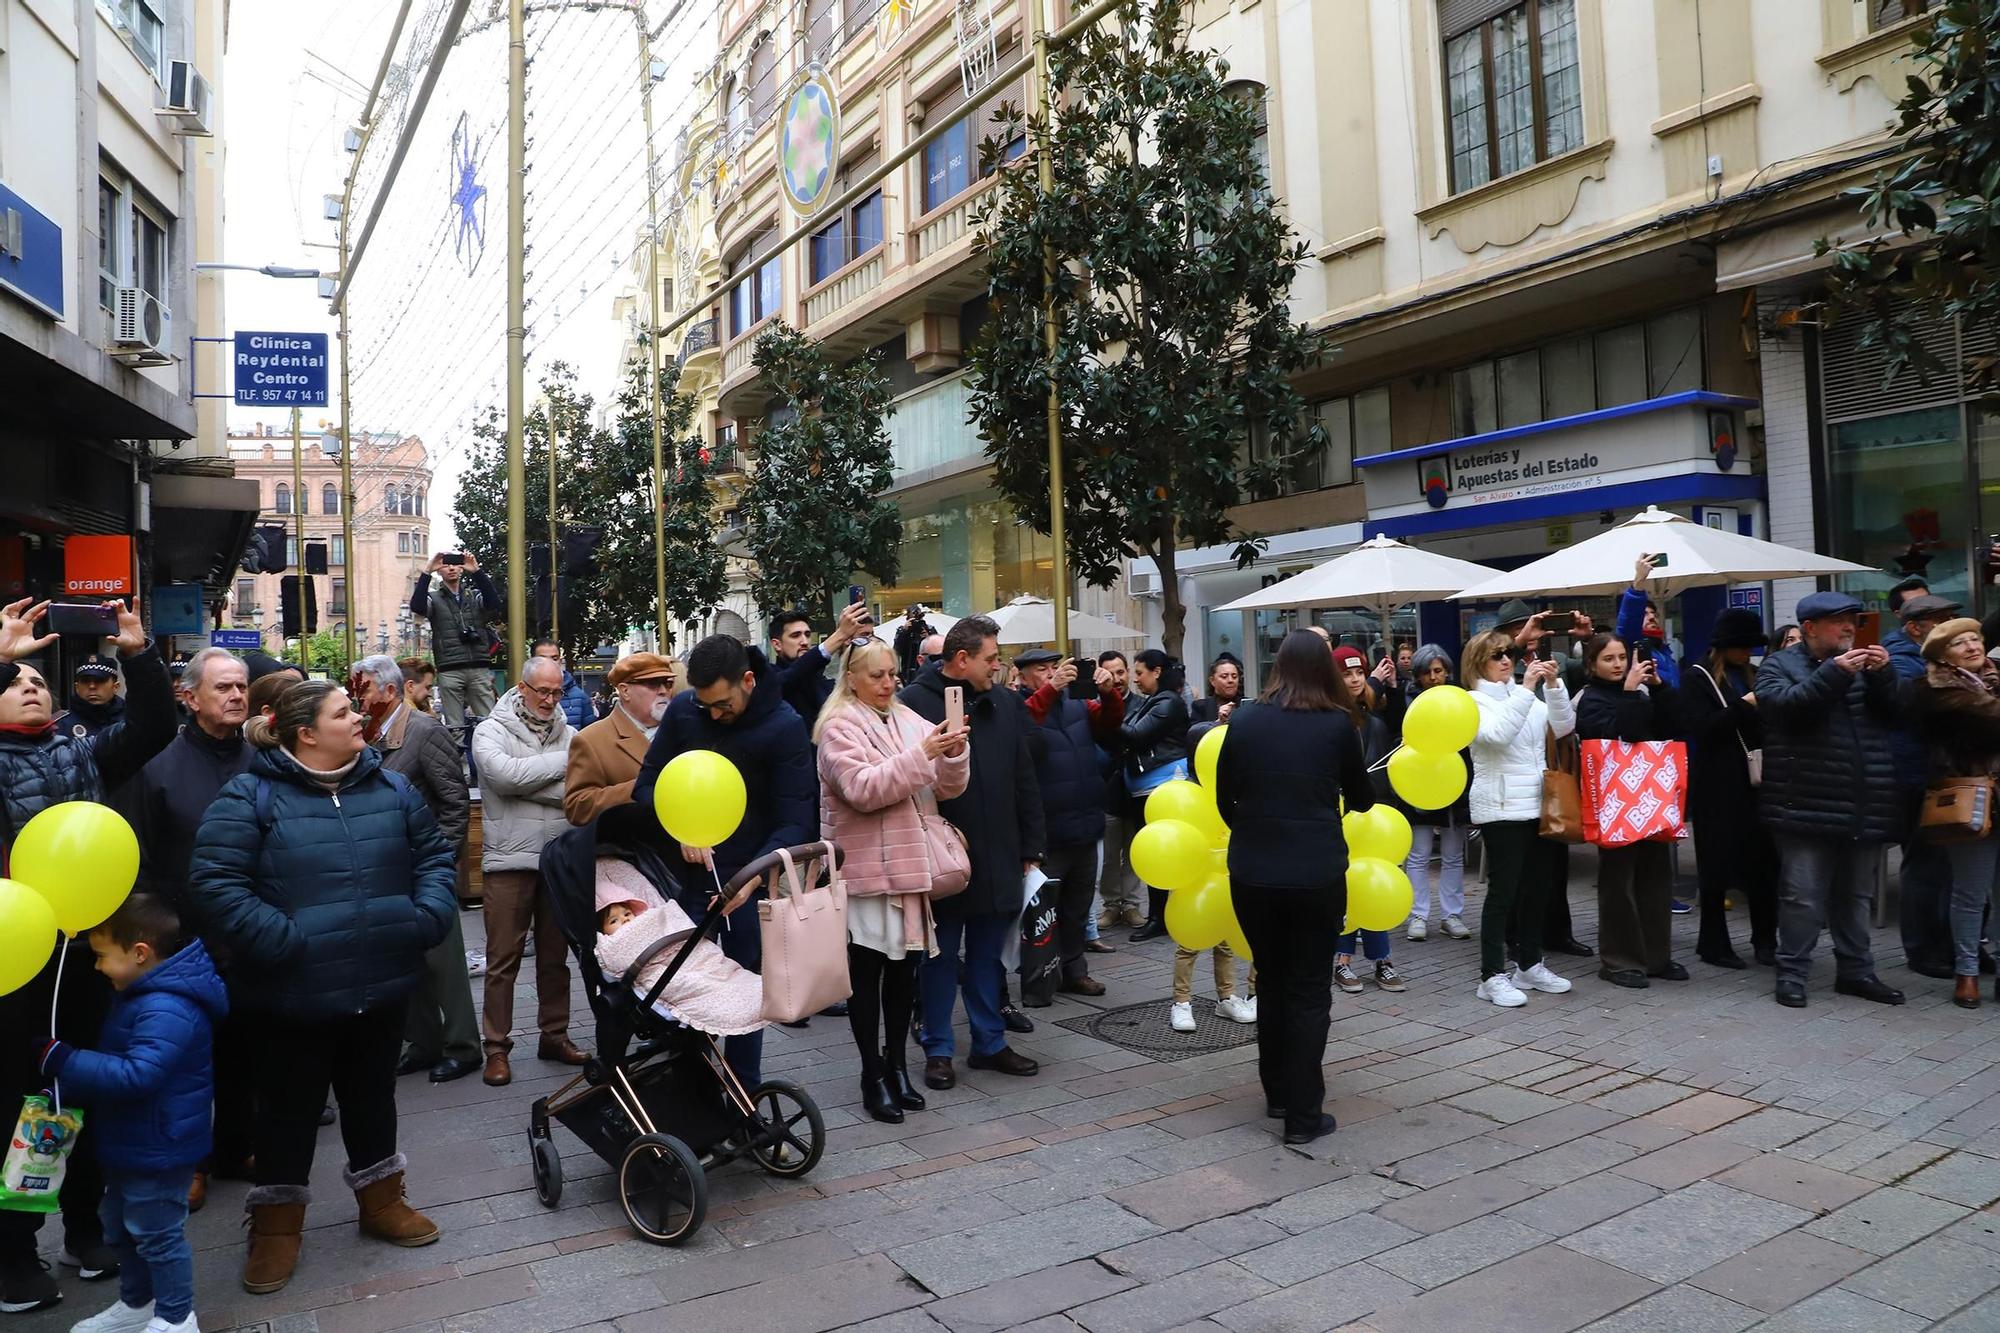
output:
[[272, 1015], [258, 1015], [256, 1023], [262, 1041], [256, 1069], [258, 1185], [304, 1187], [312, 1179], [328, 1087], [340, 1103], [348, 1171], [366, 1171], [396, 1155], [402, 1001], [322, 1023]]

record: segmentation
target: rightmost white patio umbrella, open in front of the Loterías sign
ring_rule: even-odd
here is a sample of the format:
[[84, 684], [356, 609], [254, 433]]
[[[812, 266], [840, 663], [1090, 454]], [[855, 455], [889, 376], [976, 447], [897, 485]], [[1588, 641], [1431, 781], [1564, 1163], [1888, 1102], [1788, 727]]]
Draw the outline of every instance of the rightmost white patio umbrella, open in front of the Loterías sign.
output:
[[1658, 506], [1550, 552], [1532, 564], [1496, 574], [1456, 592], [1460, 600], [1500, 600], [1538, 592], [1608, 596], [1632, 586], [1632, 564], [1642, 554], [1664, 554], [1646, 578], [1646, 588], [1668, 598], [1688, 588], [1720, 582], [1764, 582], [1768, 578], [1818, 578], [1822, 574], [1870, 574], [1874, 566], [1836, 560], [1758, 540], [1726, 528], [1710, 528]]

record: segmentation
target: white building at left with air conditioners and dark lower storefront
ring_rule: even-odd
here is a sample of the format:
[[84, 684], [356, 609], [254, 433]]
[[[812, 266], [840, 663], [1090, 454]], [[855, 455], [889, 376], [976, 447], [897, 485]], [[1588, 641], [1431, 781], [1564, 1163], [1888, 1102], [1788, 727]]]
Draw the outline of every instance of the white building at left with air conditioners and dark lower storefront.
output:
[[222, 374], [194, 264], [220, 246], [226, 30], [226, 0], [0, 0], [0, 596], [62, 596], [72, 534], [130, 536], [140, 592], [216, 602], [242, 550], [254, 496], [196, 400]]

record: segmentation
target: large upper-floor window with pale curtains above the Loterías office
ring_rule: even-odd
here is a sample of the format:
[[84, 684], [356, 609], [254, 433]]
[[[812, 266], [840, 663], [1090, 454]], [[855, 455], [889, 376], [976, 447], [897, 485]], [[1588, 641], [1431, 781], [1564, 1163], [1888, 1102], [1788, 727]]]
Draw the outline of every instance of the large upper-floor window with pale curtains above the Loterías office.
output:
[[1452, 192], [1584, 142], [1576, 0], [1440, 0]]

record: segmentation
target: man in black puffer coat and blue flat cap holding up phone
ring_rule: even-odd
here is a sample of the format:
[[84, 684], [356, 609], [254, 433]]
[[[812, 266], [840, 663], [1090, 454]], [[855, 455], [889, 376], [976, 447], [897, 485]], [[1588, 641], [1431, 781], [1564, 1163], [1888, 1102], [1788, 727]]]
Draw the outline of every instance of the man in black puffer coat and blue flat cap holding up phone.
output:
[[1798, 602], [1802, 642], [1764, 658], [1764, 823], [1784, 863], [1778, 881], [1778, 991], [1806, 1007], [1820, 927], [1834, 937], [1834, 991], [1900, 1005], [1874, 975], [1868, 915], [1880, 893], [1882, 843], [1902, 833], [1894, 729], [1900, 691], [1888, 650], [1854, 646], [1862, 604], [1846, 592]]

